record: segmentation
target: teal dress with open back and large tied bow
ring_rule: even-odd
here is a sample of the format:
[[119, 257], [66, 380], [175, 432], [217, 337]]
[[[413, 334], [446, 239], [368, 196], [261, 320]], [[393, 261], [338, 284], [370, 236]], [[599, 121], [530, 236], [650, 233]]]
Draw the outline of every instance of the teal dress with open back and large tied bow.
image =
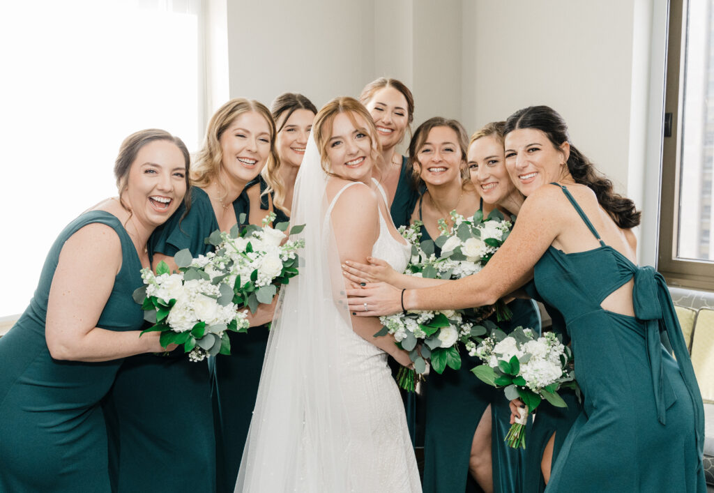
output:
[[[566, 254], [551, 246], [535, 264], [535, 287], [565, 318], [584, 396], [545, 492], [705, 492], [703, 404], [665, 281], [605, 245], [555, 185], [600, 247]], [[635, 317], [603, 309], [630, 279]]]

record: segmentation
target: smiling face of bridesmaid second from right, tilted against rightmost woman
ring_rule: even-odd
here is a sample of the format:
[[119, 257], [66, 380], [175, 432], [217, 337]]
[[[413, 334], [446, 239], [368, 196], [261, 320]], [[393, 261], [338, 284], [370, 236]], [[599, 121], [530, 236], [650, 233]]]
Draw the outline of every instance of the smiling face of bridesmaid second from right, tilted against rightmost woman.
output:
[[506, 169], [503, 143], [495, 135], [471, 143], [467, 165], [471, 181], [486, 204], [498, 204], [516, 190]]

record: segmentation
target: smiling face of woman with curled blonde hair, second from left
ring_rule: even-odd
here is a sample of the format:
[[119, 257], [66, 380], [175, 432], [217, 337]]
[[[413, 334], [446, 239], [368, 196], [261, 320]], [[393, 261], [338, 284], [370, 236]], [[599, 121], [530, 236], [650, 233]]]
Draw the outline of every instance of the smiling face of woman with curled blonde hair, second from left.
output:
[[236, 116], [218, 139], [221, 144], [221, 179], [251, 181], [263, 166], [271, 151], [270, 126], [263, 115], [246, 111]]

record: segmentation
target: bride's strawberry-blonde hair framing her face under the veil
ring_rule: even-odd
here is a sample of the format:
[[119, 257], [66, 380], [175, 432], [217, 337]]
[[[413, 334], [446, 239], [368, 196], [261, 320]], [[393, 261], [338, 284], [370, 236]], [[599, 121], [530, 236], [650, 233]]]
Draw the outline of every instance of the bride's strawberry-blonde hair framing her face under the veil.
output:
[[[315, 123], [313, 124], [313, 132], [315, 135], [315, 142], [318, 149], [320, 149], [320, 162], [322, 169], [330, 176], [336, 176], [331, 169], [330, 163], [327, 158], [327, 146], [330, 142], [331, 132], [332, 132], [332, 122], [340, 113], [344, 113], [348, 116], [352, 124], [356, 129], [363, 131], [369, 139], [371, 146], [370, 157], [374, 162], [375, 166], [379, 171], [383, 171], [385, 164], [382, 162], [381, 148], [379, 145], [379, 140], [377, 139], [377, 129], [374, 126], [374, 121], [372, 119], [369, 111], [356, 99], [341, 96], [332, 99], [328, 102], [322, 109], [318, 112], [315, 117]], [[356, 115], [359, 115], [364, 120], [366, 126], [360, 126], [358, 124]]]

